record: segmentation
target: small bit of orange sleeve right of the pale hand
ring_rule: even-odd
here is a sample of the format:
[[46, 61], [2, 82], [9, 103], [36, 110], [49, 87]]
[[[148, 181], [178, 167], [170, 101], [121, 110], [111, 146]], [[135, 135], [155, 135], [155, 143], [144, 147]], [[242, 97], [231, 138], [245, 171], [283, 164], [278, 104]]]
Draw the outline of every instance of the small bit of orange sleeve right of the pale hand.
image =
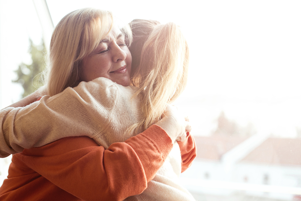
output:
[[182, 173], [191, 166], [192, 161], [196, 157], [196, 146], [192, 135], [187, 132], [184, 142], [178, 142], [182, 156]]

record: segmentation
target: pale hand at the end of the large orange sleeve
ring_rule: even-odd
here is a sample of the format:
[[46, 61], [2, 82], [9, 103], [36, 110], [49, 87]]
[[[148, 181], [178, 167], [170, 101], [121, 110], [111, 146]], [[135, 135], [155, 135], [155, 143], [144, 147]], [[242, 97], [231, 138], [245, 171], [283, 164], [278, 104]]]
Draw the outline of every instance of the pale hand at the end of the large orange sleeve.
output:
[[191, 131], [188, 117], [184, 117], [175, 106], [166, 104], [162, 120], [157, 122], [169, 135], [172, 142], [185, 141], [186, 132]]

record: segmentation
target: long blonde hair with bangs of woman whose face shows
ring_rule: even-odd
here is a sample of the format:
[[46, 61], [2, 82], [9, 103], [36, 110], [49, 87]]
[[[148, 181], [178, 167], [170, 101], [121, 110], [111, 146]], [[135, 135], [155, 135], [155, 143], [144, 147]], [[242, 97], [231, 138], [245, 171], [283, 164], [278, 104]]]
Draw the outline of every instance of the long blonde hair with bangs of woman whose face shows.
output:
[[[112, 30], [113, 14], [94, 8], [75, 10], [55, 27], [50, 42], [46, 89], [50, 96], [78, 84], [81, 62]], [[131, 32], [124, 29], [131, 39]]]

